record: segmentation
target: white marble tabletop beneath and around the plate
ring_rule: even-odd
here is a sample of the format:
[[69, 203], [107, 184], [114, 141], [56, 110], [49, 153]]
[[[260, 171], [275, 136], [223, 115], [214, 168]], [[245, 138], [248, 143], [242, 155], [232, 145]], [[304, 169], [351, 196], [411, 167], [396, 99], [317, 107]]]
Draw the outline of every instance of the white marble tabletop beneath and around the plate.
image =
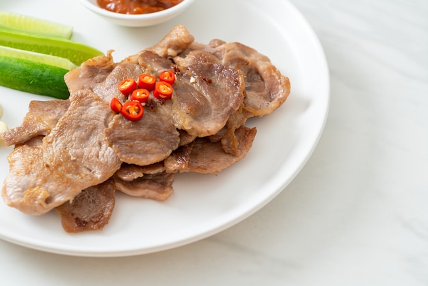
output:
[[428, 1], [292, 2], [323, 45], [332, 100], [286, 190], [222, 233], [149, 255], [0, 241], [2, 285], [428, 285]]

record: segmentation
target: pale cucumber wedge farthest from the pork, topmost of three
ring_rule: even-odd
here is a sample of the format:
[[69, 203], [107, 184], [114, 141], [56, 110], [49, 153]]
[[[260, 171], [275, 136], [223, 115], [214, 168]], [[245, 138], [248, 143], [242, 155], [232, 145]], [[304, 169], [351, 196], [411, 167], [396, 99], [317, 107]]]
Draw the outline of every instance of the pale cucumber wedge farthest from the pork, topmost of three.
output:
[[73, 28], [22, 14], [0, 11], [0, 27], [70, 39]]

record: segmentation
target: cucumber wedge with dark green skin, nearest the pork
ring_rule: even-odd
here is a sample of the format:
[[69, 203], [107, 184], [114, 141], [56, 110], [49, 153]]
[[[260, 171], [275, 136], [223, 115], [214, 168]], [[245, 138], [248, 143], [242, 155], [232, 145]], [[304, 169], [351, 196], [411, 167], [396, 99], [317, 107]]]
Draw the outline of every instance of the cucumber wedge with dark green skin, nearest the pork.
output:
[[0, 86], [68, 99], [64, 75], [74, 68], [67, 59], [0, 46]]

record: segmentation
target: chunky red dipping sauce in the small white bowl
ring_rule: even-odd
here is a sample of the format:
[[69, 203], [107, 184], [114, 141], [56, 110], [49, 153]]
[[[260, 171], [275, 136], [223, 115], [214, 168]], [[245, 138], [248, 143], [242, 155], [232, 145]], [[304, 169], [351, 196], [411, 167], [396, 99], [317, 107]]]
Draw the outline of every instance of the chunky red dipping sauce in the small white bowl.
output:
[[96, 0], [101, 8], [121, 14], [148, 14], [171, 8], [183, 0]]

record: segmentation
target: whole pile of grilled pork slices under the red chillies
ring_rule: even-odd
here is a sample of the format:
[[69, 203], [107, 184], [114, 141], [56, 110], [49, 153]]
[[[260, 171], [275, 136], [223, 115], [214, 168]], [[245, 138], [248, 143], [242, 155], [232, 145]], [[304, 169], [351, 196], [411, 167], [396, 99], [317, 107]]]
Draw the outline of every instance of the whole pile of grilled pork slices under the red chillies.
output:
[[[194, 42], [182, 25], [121, 62], [111, 53], [66, 74], [70, 99], [32, 102], [23, 124], [3, 133], [15, 144], [3, 200], [32, 215], [56, 208], [69, 232], [103, 229], [116, 190], [165, 200], [176, 173], [215, 174], [243, 159], [256, 135], [245, 121], [290, 92], [269, 58], [239, 43]], [[150, 95], [139, 121], [111, 111], [113, 97], [127, 100], [120, 81], [163, 70], [176, 75], [172, 99]]]

